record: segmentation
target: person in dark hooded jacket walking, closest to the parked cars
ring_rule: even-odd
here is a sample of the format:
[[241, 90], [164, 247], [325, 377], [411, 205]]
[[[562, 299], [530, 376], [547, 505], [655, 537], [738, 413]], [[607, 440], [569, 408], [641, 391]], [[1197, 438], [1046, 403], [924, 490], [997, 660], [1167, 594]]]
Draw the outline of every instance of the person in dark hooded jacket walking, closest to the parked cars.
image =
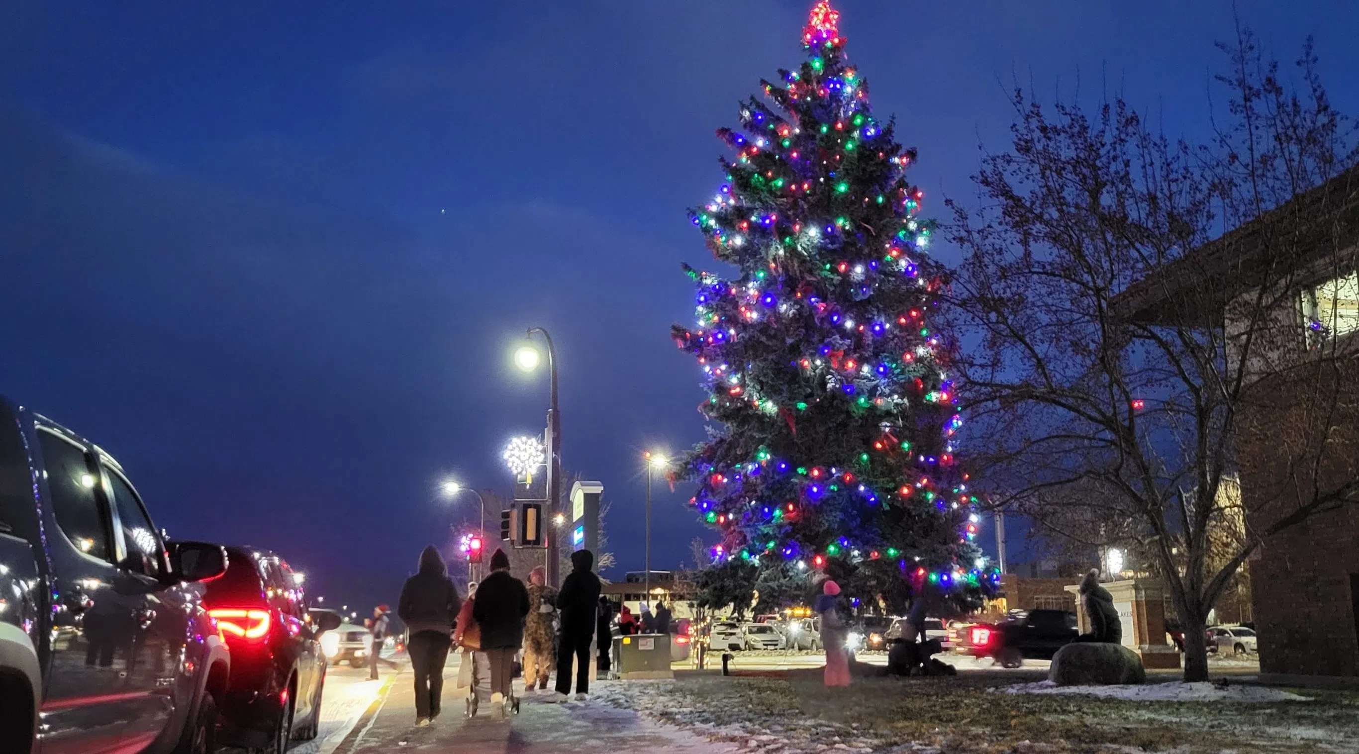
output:
[[416, 675], [416, 725], [428, 725], [439, 716], [443, 697], [443, 666], [448, 660], [453, 625], [462, 610], [458, 588], [448, 577], [439, 549], [429, 545], [420, 553], [420, 569], [406, 579], [397, 602], [397, 615], [410, 630], [410, 666]]

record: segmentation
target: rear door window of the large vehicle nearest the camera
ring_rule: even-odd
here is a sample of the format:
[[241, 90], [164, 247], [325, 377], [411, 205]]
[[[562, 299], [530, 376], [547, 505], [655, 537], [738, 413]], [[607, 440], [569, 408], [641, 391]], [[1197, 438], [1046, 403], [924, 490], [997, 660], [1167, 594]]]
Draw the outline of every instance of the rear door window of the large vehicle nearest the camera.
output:
[[38, 432], [38, 444], [61, 533], [87, 556], [113, 562], [113, 522], [96, 493], [99, 470], [84, 448], [52, 432]]

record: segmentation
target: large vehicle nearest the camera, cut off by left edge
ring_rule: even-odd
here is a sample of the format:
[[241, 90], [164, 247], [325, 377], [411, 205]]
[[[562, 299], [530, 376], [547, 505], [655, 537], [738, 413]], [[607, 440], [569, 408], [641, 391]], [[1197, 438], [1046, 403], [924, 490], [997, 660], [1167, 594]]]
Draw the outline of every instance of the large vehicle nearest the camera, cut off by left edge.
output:
[[224, 568], [169, 553], [111, 455], [0, 397], [0, 751], [212, 751], [231, 656], [196, 581]]

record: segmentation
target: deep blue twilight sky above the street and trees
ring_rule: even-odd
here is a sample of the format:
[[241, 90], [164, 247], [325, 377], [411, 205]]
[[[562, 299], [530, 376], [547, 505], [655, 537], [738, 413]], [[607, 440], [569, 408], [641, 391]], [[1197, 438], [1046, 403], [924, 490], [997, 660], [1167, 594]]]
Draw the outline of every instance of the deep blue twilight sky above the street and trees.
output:
[[[719, 182], [713, 129], [802, 60], [810, 5], [3, 3], [0, 393], [106, 447], [171, 534], [394, 600], [474, 504], [436, 481], [507, 490], [499, 450], [542, 427], [546, 382], [508, 361], [541, 325], [565, 463], [640, 568], [639, 455], [704, 436], [667, 333], [680, 262], [711, 264], [685, 208]], [[837, 7], [927, 213], [1006, 145], [1015, 79], [1201, 136], [1234, 11], [1286, 62], [1314, 34], [1359, 111], [1351, 0]], [[704, 530], [660, 490], [654, 564], [688, 564]]]

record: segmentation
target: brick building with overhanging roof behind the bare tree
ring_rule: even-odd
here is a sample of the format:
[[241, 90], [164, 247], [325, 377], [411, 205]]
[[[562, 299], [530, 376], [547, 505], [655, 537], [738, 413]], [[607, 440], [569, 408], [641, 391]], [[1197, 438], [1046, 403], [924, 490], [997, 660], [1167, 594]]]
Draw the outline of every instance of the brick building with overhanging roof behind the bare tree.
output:
[[[1246, 562], [1249, 592], [1261, 672], [1282, 682], [1354, 685], [1359, 677], [1356, 243], [1352, 168], [1116, 302], [1144, 323], [1215, 322], [1227, 363], [1243, 365], [1235, 463], [1245, 531], [1261, 538]], [[1257, 333], [1279, 337], [1250, 349], [1245, 338]], [[1340, 500], [1309, 509], [1317, 490], [1340, 490]]]

